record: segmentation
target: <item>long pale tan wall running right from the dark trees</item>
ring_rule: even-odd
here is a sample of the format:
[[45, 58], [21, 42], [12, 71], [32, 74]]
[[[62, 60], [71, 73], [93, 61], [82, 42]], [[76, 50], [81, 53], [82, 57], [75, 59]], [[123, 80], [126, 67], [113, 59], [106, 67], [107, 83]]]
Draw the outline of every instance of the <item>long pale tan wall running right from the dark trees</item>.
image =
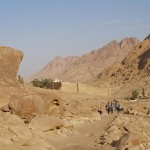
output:
[[62, 82], [61, 91], [111, 96], [111, 90], [103, 87], [93, 87], [80, 83]]

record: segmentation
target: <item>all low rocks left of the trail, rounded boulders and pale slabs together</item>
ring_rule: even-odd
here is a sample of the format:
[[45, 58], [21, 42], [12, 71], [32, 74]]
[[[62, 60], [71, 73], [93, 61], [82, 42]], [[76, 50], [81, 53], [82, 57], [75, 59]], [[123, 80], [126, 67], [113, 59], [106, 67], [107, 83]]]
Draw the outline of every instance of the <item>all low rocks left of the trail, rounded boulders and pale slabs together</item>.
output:
[[45, 99], [36, 94], [22, 96], [1, 108], [0, 148], [55, 150], [51, 143], [54, 136], [64, 138], [74, 127], [100, 120], [97, 112], [80, 111], [82, 105], [78, 101], [61, 102], [55, 94], [50, 95], [48, 99], [46, 95]]

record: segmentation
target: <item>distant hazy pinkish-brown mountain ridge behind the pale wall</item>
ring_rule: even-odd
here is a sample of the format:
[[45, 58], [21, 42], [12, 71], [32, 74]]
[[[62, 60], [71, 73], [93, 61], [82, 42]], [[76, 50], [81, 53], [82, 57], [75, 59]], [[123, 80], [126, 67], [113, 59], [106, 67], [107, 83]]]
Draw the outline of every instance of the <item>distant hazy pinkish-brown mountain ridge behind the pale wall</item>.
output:
[[57, 77], [61, 81], [87, 82], [97, 78], [103, 69], [121, 62], [138, 43], [136, 38], [125, 38], [120, 42], [112, 41], [103, 48], [93, 50], [82, 57], [57, 57], [33, 75], [31, 79]]

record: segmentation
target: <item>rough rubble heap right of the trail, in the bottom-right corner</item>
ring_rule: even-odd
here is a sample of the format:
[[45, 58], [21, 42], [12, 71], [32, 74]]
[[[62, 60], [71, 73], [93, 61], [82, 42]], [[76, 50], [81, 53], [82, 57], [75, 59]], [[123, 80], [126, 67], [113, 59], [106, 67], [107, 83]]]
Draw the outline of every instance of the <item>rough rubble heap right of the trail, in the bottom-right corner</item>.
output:
[[150, 118], [119, 115], [100, 138], [101, 144], [111, 144], [121, 150], [150, 149]]

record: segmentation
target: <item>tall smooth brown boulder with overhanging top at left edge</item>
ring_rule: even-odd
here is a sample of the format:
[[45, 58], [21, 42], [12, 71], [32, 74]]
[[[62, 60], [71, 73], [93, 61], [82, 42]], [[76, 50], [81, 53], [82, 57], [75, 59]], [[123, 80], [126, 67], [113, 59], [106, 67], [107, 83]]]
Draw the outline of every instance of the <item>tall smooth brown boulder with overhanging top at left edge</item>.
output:
[[22, 59], [21, 51], [0, 46], [0, 107], [8, 104], [11, 96], [22, 94], [16, 79]]

